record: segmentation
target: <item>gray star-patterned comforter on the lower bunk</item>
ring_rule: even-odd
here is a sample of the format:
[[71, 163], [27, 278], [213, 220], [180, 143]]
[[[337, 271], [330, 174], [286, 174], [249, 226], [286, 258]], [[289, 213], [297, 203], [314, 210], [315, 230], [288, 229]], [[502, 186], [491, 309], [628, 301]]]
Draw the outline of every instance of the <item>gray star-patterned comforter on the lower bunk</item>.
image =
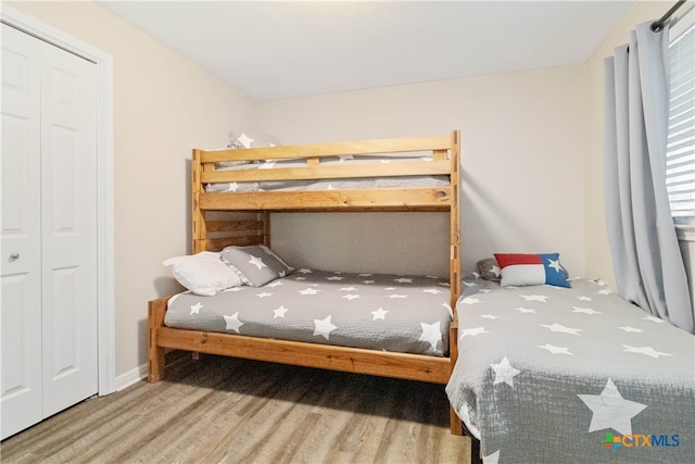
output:
[[300, 269], [263, 287], [169, 299], [169, 327], [448, 355], [450, 287], [435, 276]]

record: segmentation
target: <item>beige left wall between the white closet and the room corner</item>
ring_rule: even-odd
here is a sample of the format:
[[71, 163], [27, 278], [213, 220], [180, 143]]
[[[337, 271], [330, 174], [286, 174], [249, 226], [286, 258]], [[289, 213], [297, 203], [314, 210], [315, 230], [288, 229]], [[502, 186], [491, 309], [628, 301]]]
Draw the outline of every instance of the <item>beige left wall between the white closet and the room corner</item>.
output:
[[147, 361], [147, 301], [190, 251], [190, 149], [218, 148], [253, 101], [92, 2], [7, 2], [113, 57], [116, 376]]

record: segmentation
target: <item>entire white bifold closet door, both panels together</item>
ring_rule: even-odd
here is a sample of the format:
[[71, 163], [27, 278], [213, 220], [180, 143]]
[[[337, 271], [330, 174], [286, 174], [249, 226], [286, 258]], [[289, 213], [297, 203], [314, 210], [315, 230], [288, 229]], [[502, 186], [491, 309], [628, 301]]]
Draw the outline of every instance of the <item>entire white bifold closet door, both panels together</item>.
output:
[[94, 83], [2, 25], [2, 438], [98, 391]]

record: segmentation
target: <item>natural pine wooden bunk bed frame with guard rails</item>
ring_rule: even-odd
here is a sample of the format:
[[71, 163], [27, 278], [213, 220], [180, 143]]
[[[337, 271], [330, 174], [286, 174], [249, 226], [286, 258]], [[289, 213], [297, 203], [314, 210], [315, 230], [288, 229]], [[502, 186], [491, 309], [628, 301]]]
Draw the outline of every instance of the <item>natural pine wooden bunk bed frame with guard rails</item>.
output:
[[[321, 165], [325, 156], [421, 152], [432, 161], [392, 161], [383, 164]], [[294, 364], [358, 374], [446, 384], [458, 356], [456, 300], [460, 294], [459, 238], [459, 133], [444, 136], [363, 140], [244, 150], [193, 150], [191, 160], [192, 252], [219, 251], [227, 246], [270, 247], [271, 212], [448, 212], [451, 217], [450, 358], [406, 354], [263, 339], [170, 328], [164, 325], [167, 298], [150, 301], [148, 380], [164, 377], [167, 350], [186, 350], [282, 364]], [[249, 160], [304, 159], [292, 168], [217, 171], [216, 163]], [[219, 181], [327, 179], [382, 176], [443, 175], [450, 184], [440, 187], [375, 188], [321, 191], [205, 192], [204, 186]], [[452, 432], [460, 435], [460, 421], [451, 412]]]

